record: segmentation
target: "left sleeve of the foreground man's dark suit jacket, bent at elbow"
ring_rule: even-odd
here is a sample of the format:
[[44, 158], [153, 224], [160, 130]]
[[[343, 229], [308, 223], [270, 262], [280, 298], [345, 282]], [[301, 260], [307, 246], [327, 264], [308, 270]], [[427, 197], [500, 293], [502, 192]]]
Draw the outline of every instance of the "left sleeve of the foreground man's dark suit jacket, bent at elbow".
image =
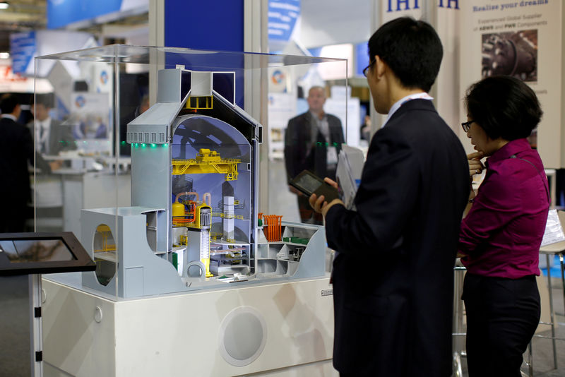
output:
[[420, 186], [419, 161], [393, 128], [373, 140], [355, 197], [357, 211], [334, 205], [326, 214], [328, 246], [340, 253], [386, 253], [410, 225]]

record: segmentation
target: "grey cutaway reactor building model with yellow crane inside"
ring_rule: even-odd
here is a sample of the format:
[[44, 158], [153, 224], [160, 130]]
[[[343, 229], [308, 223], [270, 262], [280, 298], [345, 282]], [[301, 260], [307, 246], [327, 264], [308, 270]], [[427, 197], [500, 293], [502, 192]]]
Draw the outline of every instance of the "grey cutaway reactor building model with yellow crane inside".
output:
[[234, 83], [158, 72], [156, 103], [127, 128], [131, 207], [82, 210], [97, 263], [83, 285], [140, 297], [324, 275], [323, 230], [258, 213], [262, 126], [234, 104]]

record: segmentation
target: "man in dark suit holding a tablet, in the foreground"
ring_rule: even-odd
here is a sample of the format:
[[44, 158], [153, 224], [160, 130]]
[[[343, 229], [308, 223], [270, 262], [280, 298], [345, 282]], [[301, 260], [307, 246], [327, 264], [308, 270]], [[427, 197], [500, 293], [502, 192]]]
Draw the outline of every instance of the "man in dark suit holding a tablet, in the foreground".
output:
[[364, 72], [388, 118], [369, 145], [357, 211], [310, 197], [337, 251], [340, 376], [451, 376], [453, 265], [470, 182], [463, 146], [427, 94], [442, 55], [423, 21], [397, 18], [374, 33]]

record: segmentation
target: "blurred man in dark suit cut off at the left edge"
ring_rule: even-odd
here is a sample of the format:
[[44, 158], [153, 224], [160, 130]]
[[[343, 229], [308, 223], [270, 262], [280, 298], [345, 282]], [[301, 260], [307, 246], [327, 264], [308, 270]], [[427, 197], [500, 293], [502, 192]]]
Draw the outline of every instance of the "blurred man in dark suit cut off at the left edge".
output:
[[28, 162], [33, 165], [33, 141], [30, 130], [16, 122], [21, 112], [16, 96], [2, 98], [0, 111], [0, 233], [23, 232], [31, 199]]

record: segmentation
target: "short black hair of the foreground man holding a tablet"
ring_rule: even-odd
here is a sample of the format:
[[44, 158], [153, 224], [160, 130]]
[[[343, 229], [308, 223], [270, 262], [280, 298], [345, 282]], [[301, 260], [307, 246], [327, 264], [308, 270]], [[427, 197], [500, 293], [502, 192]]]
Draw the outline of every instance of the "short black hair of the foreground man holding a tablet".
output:
[[436, 80], [444, 49], [429, 23], [410, 17], [388, 21], [369, 39], [369, 61], [378, 55], [408, 89], [429, 92]]

